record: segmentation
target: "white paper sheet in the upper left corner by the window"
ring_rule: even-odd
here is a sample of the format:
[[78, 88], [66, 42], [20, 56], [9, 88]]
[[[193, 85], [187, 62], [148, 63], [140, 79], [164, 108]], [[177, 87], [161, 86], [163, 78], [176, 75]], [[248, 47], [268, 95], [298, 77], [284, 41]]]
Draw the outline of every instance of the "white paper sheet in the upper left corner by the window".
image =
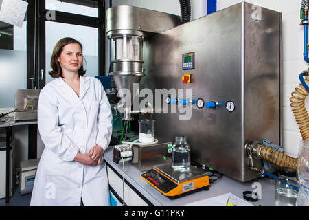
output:
[[[0, 2], [1, 3], [1, 2]], [[22, 0], [2, 0], [0, 21], [23, 27], [23, 19], [27, 12], [28, 3]]]

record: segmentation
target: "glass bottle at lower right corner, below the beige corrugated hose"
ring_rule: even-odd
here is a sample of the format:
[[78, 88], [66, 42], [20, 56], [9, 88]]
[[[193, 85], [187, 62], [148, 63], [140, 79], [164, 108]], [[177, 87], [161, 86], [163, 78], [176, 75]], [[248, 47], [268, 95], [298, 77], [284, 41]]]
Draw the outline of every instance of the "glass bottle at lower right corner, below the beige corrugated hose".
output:
[[296, 206], [297, 190], [288, 186], [299, 187], [297, 172], [291, 168], [279, 168], [275, 181], [275, 206]]

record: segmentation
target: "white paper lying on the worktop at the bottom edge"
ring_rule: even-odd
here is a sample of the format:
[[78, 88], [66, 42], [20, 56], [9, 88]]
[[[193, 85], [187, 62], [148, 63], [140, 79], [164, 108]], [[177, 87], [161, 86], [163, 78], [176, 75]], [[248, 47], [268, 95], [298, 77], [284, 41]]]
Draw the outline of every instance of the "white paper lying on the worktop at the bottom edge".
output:
[[236, 197], [236, 195], [233, 195], [232, 193], [226, 193], [217, 197], [203, 199], [201, 201], [194, 201], [185, 206], [226, 206], [228, 199], [229, 203], [233, 204], [234, 206], [253, 206], [253, 204], [245, 201], [244, 199]]

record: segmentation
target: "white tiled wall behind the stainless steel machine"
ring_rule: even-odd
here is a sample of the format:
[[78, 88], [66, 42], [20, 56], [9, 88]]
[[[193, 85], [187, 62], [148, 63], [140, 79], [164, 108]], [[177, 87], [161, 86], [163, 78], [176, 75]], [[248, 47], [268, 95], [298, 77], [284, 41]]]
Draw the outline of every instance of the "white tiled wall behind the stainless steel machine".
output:
[[[206, 1], [206, 0], [205, 0]], [[240, 0], [218, 0], [217, 10], [222, 10]], [[297, 157], [301, 135], [290, 108], [290, 94], [299, 85], [299, 74], [308, 69], [303, 59], [303, 28], [299, 19], [301, 0], [247, 0], [249, 3], [260, 5], [264, 8], [282, 12], [282, 41], [283, 41], [283, 89], [282, 89], [282, 122], [283, 122], [283, 147], [285, 152]], [[201, 0], [192, 0], [192, 17], [196, 3], [203, 5]], [[114, 0], [113, 5], [134, 5], [141, 8], [149, 8], [180, 14], [179, 0]]]

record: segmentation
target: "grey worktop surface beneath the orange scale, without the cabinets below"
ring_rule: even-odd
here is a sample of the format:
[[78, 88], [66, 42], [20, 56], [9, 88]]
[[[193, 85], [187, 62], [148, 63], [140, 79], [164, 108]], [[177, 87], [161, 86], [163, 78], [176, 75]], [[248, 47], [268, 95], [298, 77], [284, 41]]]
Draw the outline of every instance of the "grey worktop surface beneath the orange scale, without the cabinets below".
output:
[[[113, 170], [123, 176], [122, 162], [119, 162], [119, 164], [113, 162], [113, 146], [108, 147], [104, 152], [104, 159], [108, 166], [111, 166]], [[262, 198], [257, 202], [251, 202], [253, 206], [275, 206], [275, 180], [268, 177], [242, 183], [224, 175], [218, 181], [211, 184], [207, 191], [203, 190], [171, 200], [142, 179], [141, 173], [144, 172], [141, 172], [137, 167], [129, 162], [125, 162], [124, 170], [126, 181], [139, 191], [141, 195], [144, 195], [154, 206], [186, 206], [189, 203], [209, 199], [228, 192], [242, 199], [242, 192], [254, 190], [255, 188], [253, 188], [252, 184], [256, 182], [262, 186]]]

